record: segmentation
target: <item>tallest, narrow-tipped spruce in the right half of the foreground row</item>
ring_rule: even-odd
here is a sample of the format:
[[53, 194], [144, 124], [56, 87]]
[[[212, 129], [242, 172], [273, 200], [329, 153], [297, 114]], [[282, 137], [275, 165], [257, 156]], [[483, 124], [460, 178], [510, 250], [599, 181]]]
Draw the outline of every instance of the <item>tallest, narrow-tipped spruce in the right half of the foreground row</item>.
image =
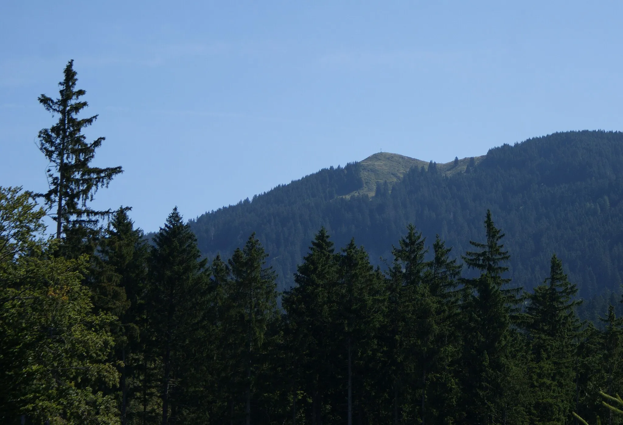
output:
[[[516, 290], [503, 289], [510, 279], [503, 277], [510, 259], [500, 240], [504, 234], [495, 227], [491, 211], [485, 219], [487, 241], [470, 241], [480, 251], [468, 251], [462, 258], [478, 277], [462, 279], [463, 348], [461, 384], [464, 418], [467, 423], [502, 423], [510, 419], [517, 399], [511, 398], [511, 309], [518, 302]], [[521, 418], [515, 416], [514, 421]]]

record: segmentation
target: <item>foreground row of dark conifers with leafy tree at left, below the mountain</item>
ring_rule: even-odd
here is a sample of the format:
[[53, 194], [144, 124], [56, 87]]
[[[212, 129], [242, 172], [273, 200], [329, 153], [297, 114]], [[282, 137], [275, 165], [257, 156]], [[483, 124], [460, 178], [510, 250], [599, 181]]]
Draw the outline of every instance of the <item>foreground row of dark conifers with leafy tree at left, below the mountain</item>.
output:
[[413, 226], [385, 271], [320, 229], [280, 309], [255, 235], [207, 264], [177, 210], [148, 245], [120, 209], [68, 259], [30, 196], [0, 202], [3, 423], [568, 423], [623, 383], [614, 307], [580, 322], [556, 255], [513, 287], [490, 213], [473, 277]]

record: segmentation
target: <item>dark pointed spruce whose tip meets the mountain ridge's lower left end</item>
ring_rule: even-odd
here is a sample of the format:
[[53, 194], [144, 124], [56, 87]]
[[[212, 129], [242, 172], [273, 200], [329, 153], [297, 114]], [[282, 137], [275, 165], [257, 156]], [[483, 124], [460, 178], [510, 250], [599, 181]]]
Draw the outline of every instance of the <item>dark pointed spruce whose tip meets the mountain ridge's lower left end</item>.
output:
[[209, 272], [196, 237], [177, 208], [153, 239], [147, 289], [152, 356], [159, 365], [161, 424], [194, 417], [204, 325], [209, 308]]

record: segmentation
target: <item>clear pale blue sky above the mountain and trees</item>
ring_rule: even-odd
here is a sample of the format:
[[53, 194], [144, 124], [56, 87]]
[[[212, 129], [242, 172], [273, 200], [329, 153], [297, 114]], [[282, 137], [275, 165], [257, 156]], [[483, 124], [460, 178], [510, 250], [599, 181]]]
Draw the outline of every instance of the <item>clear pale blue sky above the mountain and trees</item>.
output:
[[95, 206], [146, 231], [379, 150], [447, 162], [623, 129], [622, 2], [15, 1], [0, 5], [0, 185], [47, 188], [37, 131], [75, 60]]

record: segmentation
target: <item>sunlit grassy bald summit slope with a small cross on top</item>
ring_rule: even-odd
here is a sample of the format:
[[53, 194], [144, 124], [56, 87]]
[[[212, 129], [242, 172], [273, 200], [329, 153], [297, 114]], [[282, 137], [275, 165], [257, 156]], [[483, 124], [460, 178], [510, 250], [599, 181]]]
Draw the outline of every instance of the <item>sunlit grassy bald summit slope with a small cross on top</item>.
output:
[[[476, 165], [478, 165], [483, 158], [485, 158], [485, 155], [475, 156], [474, 161]], [[463, 158], [459, 160], [459, 165], [457, 166], [454, 165], [454, 161], [445, 164], [437, 164], [437, 170], [447, 176], [451, 176], [455, 173], [464, 173], [469, 164], [469, 160], [470, 158]], [[362, 194], [367, 194], [372, 197], [374, 193], [376, 193], [377, 183], [383, 184], [384, 182], [388, 182], [389, 188], [391, 189], [394, 183], [400, 181], [402, 176], [411, 170], [411, 168], [417, 167], [420, 169], [424, 167], [427, 169], [429, 163], [397, 153], [379, 152], [360, 161], [359, 166], [361, 179], [363, 180], [363, 188], [349, 193], [346, 197]]]

